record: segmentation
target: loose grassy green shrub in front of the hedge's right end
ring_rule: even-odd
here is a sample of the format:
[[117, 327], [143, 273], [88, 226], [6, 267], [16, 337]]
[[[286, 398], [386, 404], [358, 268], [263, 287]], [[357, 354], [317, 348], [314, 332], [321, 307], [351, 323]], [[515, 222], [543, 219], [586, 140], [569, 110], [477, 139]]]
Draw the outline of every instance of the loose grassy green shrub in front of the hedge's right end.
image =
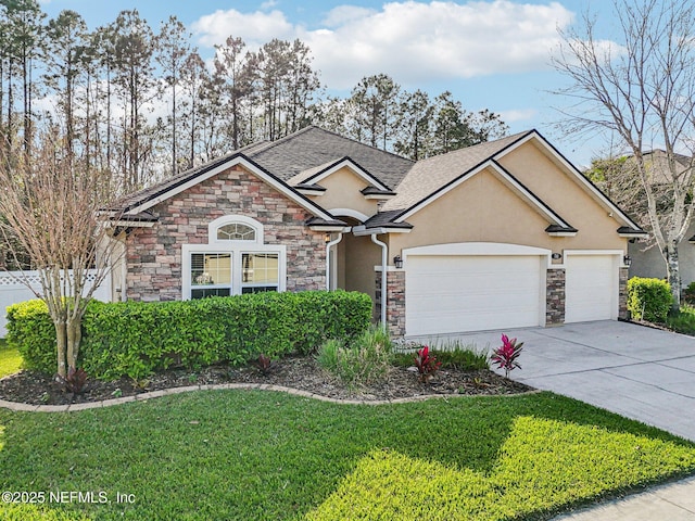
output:
[[391, 366], [392, 343], [383, 327], [371, 326], [352, 341], [326, 341], [318, 364], [348, 385], [364, 385], [386, 377]]

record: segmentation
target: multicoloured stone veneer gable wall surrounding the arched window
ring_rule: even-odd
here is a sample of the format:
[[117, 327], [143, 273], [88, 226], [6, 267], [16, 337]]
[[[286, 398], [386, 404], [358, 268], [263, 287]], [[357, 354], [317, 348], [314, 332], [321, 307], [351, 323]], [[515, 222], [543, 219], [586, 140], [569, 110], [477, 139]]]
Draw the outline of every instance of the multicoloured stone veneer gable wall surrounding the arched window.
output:
[[241, 167], [232, 167], [150, 208], [160, 221], [127, 238], [126, 296], [181, 298], [181, 244], [207, 244], [207, 225], [225, 215], [264, 226], [265, 244], [287, 246], [287, 290], [326, 288], [324, 233], [304, 221], [311, 214]]

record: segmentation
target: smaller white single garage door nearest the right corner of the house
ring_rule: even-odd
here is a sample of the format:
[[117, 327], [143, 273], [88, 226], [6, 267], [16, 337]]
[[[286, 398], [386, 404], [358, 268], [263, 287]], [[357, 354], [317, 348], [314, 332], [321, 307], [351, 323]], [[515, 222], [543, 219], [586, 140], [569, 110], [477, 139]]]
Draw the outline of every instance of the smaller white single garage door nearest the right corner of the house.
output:
[[618, 316], [618, 257], [567, 255], [565, 322], [610, 320]]

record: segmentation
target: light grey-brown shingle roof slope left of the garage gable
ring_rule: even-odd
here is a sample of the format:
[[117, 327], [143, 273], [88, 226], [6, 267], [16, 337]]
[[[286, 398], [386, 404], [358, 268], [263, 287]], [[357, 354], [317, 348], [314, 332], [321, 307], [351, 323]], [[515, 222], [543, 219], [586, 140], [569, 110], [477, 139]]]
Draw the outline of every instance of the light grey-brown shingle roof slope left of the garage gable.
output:
[[519, 132], [496, 141], [488, 141], [418, 161], [396, 187], [397, 195], [389, 200], [382, 209], [384, 212], [405, 211], [415, 206], [528, 134], [530, 131]]

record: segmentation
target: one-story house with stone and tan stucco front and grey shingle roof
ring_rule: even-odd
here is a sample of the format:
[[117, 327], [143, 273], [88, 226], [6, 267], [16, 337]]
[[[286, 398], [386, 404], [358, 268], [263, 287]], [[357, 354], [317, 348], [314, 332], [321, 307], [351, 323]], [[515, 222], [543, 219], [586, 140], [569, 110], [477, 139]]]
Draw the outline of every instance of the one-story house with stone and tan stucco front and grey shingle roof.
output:
[[341, 288], [396, 335], [617, 319], [644, 236], [535, 130], [415, 163], [307, 127], [113, 209], [114, 300]]

